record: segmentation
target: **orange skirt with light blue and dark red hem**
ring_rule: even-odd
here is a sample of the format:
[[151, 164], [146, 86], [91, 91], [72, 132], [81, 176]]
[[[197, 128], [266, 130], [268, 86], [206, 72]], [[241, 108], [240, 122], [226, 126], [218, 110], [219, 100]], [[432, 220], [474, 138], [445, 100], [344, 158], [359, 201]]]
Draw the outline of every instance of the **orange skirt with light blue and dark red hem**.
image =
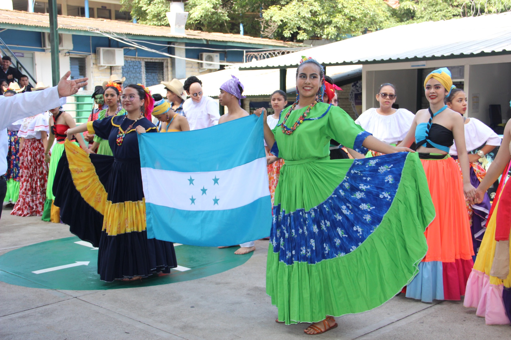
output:
[[463, 182], [456, 162], [421, 159], [436, 216], [424, 235], [428, 252], [406, 296], [425, 302], [460, 300], [474, 265]]

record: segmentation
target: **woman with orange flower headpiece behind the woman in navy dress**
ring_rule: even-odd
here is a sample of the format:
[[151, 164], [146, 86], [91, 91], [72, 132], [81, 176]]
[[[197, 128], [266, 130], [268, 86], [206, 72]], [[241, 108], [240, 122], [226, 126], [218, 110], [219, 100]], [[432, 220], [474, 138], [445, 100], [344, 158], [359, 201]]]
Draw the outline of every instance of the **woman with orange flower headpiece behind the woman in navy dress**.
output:
[[[99, 112], [98, 120], [101, 120], [106, 117], [122, 116], [126, 114], [126, 110], [122, 108], [119, 109], [121, 91], [122, 91], [121, 86], [117, 83], [108, 82], [108, 84], [106, 84], [105, 93], [103, 93], [103, 97], [105, 98], [105, 104], [108, 107]], [[112, 149], [110, 148], [107, 139], [94, 136], [94, 143], [92, 143], [90, 150], [96, 150], [96, 148], [98, 148], [98, 151], [96, 152], [97, 154], [113, 156]]]

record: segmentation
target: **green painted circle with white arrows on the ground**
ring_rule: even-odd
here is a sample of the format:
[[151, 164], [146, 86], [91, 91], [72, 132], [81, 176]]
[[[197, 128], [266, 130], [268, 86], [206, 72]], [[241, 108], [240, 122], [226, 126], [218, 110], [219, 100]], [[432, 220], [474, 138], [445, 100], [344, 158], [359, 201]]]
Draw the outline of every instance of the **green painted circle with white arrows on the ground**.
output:
[[179, 245], [175, 250], [181, 271], [172, 269], [170, 275], [151, 275], [142, 281], [104, 282], [98, 275], [98, 249], [91, 247], [77, 237], [70, 237], [11, 250], [0, 256], [0, 281], [73, 291], [143, 287], [218, 274], [244, 264], [252, 256], [252, 253], [235, 255], [235, 248]]

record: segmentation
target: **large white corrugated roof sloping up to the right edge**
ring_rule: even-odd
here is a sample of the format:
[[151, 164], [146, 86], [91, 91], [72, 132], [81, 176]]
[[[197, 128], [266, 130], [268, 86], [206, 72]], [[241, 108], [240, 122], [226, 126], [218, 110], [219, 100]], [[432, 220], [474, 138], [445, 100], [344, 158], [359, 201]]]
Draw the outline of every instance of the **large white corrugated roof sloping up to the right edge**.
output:
[[296, 67], [302, 55], [323, 65], [374, 64], [511, 54], [511, 12], [400, 25], [246, 63], [241, 70]]

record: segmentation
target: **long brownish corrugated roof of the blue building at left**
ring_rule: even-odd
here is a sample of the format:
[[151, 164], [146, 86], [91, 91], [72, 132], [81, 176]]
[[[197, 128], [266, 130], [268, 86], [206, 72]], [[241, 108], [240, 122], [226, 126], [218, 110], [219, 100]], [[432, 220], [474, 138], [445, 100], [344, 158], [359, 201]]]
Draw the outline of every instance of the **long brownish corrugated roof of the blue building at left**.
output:
[[[164, 40], [169, 38], [188, 38], [283, 47], [296, 47], [301, 45], [280, 40], [242, 36], [239, 34], [209, 33], [192, 30], [187, 30], [185, 35], [177, 35], [171, 34], [170, 27], [167, 26], [143, 25], [126, 21], [84, 18], [76, 16], [59, 15], [57, 22], [59, 29], [64, 30], [67, 29], [82, 32], [101, 31], [105, 33], [111, 32], [125, 35], [161, 37]], [[2, 25], [2, 23], [10, 25], [41, 27], [48, 30], [50, 28], [50, 17], [48, 14], [44, 13], [0, 10], [0, 28], [7, 27], [7, 25]]]

